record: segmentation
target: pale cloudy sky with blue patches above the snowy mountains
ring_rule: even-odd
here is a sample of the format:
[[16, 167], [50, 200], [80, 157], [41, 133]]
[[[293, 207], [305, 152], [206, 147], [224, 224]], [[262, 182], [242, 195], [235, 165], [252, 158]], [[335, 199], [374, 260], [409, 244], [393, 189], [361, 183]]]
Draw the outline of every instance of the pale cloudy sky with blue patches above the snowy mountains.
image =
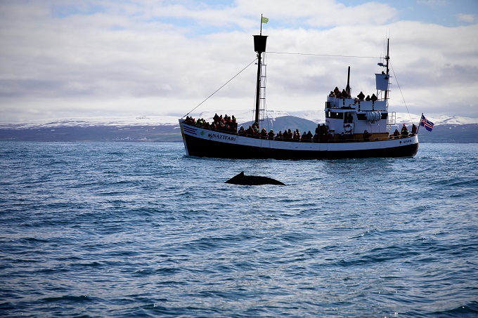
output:
[[478, 117], [475, 0], [0, 0], [0, 121], [253, 110], [261, 15], [268, 110], [323, 110], [349, 66], [375, 93], [389, 38], [390, 111]]

